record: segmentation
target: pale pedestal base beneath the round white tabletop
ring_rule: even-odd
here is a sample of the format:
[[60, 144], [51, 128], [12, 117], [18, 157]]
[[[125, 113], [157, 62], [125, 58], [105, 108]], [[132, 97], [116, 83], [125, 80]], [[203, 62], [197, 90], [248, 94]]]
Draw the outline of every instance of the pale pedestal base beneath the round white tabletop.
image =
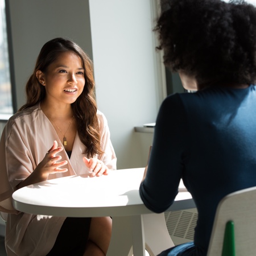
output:
[[112, 238], [107, 256], [150, 256], [174, 246], [164, 213], [113, 217]]

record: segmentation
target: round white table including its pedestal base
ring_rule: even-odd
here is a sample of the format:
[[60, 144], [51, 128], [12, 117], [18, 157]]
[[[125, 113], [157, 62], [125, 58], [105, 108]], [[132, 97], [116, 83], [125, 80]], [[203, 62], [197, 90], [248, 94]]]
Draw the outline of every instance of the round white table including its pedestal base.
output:
[[[107, 176], [61, 177], [29, 185], [13, 193], [14, 208], [20, 212], [64, 216], [112, 216], [109, 256], [144, 256], [173, 246], [164, 213], [148, 210], [139, 196], [144, 168], [110, 171]], [[191, 194], [181, 181], [180, 192], [168, 210], [195, 208]], [[132, 249], [131, 249], [132, 248]]]

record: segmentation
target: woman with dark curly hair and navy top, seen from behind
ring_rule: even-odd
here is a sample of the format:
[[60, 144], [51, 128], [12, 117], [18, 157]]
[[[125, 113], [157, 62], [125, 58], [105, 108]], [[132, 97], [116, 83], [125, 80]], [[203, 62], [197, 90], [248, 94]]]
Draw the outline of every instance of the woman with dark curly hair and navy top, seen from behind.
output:
[[256, 7], [170, 0], [155, 27], [164, 64], [194, 93], [168, 96], [156, 119], [140, 187], [149, 209], [174, 203], [180, 179], [198, 210], [194, 241], [159, 255], [207, 255], [214, 215], [228, 193], [256, 186]]

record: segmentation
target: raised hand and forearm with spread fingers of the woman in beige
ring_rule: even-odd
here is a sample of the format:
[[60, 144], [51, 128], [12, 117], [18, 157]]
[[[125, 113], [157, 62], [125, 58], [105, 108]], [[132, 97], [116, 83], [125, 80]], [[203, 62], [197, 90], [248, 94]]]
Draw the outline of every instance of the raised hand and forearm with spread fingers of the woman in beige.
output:
[[18, 185], [18, 188], [26, 187], [28, 185], [47, 180], [49, 174], [68, 171], [67, 168], [60, 168], [68, 163], [67, 160], [57, 162], [61, 160], [61, 156], [56, 154], [63, 150], [63, 147], [57, 146], [57, 142], [54, 141], [52, 147], [46, 153], [46, 156], [44, 156], [42, 162], [38, 164], [30, 176], [28, 176]]

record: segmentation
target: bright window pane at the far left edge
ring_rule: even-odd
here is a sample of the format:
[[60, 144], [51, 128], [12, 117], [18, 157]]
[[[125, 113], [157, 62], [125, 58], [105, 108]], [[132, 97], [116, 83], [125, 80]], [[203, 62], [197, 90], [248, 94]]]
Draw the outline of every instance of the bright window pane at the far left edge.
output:
[[14, 113], [14, 107], [11, 89], [5, 0], [0, 0], [0, 8], [0, 119], [8, 119]]

